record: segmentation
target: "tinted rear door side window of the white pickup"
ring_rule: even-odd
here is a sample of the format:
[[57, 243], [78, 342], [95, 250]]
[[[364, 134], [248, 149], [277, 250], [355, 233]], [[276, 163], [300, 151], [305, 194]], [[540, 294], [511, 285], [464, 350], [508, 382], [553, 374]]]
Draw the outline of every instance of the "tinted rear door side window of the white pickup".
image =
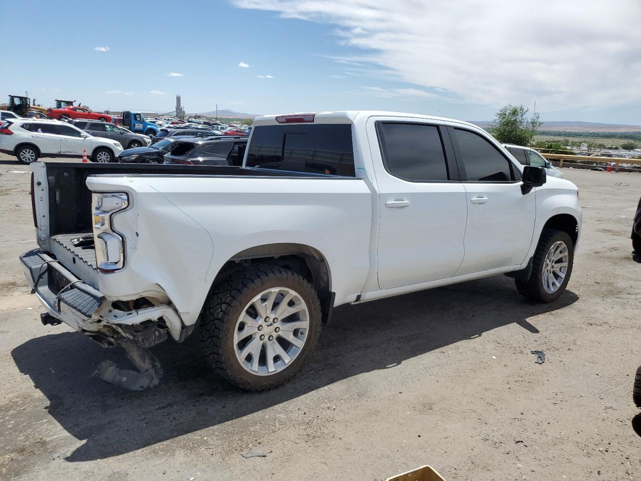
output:
[[437, 126], [381, 122], [379, 136], [390, 174], [412, 181], [448, 180]]

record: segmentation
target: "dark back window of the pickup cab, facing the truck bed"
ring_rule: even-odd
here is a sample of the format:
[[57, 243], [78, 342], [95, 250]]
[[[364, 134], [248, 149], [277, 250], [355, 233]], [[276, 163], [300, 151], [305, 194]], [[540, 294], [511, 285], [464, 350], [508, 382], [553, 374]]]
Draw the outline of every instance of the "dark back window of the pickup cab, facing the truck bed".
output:
[[247, 167], [354, 176], [351, 124], [266, 125], [254, 129]]

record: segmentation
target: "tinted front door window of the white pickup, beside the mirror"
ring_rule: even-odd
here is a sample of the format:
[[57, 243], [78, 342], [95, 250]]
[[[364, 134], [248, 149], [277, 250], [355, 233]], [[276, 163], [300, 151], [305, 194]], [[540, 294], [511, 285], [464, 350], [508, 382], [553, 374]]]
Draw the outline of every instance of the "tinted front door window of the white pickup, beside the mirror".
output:
[[456, 160], [465, 165], [468, 181], [510, 182], [512, 165], [497, 148], [480, 135], [468, 130], [454, 129]]

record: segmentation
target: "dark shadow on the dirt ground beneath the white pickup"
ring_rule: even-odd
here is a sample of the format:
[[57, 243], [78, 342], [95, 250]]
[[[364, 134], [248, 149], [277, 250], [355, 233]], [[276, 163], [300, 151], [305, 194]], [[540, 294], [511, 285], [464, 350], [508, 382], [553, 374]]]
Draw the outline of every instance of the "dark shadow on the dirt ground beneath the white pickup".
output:
[[[215, 376], [197, 335], [184, 344], [154, 348], [164, 376], [158, 387], [143, 392], [90, 378], [106, 357], [122, 366], [126, 359], [122, 350], [104, 350], [79, 333], [30, 339], [12, 356], [50, 401], [49, 415], [76, 439], [86, 440], [66, 458], [76, 462], [121, 455], [242, 418], [338, 380], [394, 369], [454, 342], [468, 340], [472, 348], [476, 337], [511, 323], [538, 333], [527, 319], [576, 300], [567, 291], [551, 304], [527, 303], [512, 280], [494, 277], [341, 307], [324, 326], [319, 348], [303, 372], [269, 392], [243, 392]], [[28, 409], [16, 412], [28, 422]]]

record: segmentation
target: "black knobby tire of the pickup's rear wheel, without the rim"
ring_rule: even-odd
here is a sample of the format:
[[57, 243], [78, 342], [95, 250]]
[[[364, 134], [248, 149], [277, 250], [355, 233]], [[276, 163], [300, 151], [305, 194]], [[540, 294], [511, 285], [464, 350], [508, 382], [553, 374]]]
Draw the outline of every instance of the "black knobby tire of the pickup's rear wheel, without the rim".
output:
[[[270, 287], [287, 287], [305, 301], [310, 318], [307, 339], [290, 366], [267, 376], [250, 373], [240, 365], [233, 334], [242, 309], [254, 296]], [[266, 391], [292, 378], [318, 344], [321, 310], [317, 292], [300, 274], [269, 264], [246, 266], [213, 287], [200, 315], [200, 337], [204, 355], [215, 371], [246, 391]]]

